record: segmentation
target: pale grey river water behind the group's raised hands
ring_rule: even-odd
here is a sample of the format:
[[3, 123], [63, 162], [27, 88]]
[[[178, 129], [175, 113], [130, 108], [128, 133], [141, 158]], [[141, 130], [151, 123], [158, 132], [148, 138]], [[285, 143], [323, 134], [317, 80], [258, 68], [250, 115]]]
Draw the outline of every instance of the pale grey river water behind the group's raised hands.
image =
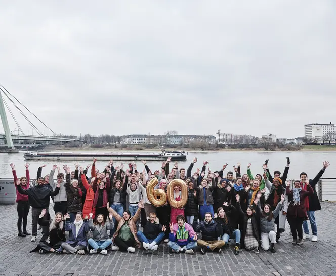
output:
[[[93, 151], [90, 151], [93, 152]], [[144, 151], [141, 151], [144, 152]], [[24, 152], [20, 153], [12, 153], [0, 154], [0, 178], [12, 177], [10, 163], [15, 164], [15, 169], [17, 171], [17, 175], [23, 176], [25, 175], [25, 160], [23, 157]], [[320, 171], [323, 166], [323, 161], [327, 160], [330, 162], [330, 166], [326, 169], [323, 177], [324, 178], [336, 178], [336, 151], [273, 151], [273, 152], [265, 152], [265, 151], [200, 151], [200, 152], [189, 152], [188, 160], [179, 162], [179, 168], [187, 169], [190, 162], [194, 157], [197, 157], [198, 161], [194, 166], [193, 171], [197, 168], [201, 168], [203, 165], [203, 161], [207, 160], [209, 162], [209, 168], [212, 171], [219, 171], [223, 167], [225, 163], [228, 163], [228, 167], [225, 170], [225, 173], [233, 171], [233, 165], [236, 165], [237, 162], [241, 163], [241, 172], [246, 172], [246, 166], [248, 163], [252, 163], [251, 171], [254, 175], [257, 173], [261, 173], [262, 165], [266, 159], [269, 159], [268, 166], [273, 173], [274, 170], [279, 170], [283, 172], [284, 167], [286, 166], [286, 157], [290, 158], [290, 169], [288, 174], [288, 179], [298, 179], [301, 172], [306, 172], [308, 177], [313, 178]], [[47, 167], [43, 169], [42, 175], [46, 175], [52, 169], [52, 165], [54, 165], [55, 161], [29, 161], [29, 171], [31, 178], [36, 177], [36, 172], [39, 166], [43, 164], [47, 164]], [[83, 167], [86, 167], [90, 162], [82, 161], [79, 164]], [[104, 169], [107, 161], [97, 161], [97, 168], [100, 170]], [[124, 162], [126, 165], [128, 162]], [[141, 161], [136, 162], [138, 165], [138, 170], [143, 170], [144, 166]], [[56, 163], [58, 166], [62, 167], [63, 164], [67, 164], [74, 170], [74, 162], [69, 161], [59, 161]], [[161, 168], [160, 162], [149, 161], [147, 162], [149, 168], [154, 170], [159, 170]], [[114, 166], [116, 166], [114, 164]], [[171, 165], [172, 168], [173, 165]], [[127, 168], [127, 165], [124, 169]], [[63, 172], [63, 169], [61, 169]]]

